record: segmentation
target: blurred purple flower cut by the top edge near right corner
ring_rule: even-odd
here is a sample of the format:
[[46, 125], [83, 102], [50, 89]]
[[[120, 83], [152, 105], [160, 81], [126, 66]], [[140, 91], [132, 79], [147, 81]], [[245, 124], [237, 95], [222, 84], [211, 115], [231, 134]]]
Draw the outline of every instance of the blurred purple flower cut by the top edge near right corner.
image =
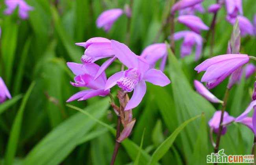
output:
[[227, 14], [236, 18], [238, 13], [243, 15], [243, 4], [242, 0], [225, 0]]

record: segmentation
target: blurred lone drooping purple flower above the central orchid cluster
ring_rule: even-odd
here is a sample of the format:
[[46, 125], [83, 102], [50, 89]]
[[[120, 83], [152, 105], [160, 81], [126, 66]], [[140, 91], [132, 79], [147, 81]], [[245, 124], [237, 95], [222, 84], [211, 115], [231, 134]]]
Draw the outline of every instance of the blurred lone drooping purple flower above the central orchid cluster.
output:
[[106, 10], [98, 16], [96, 20], [96, 25], [98, 28], [103, 27], [103, 29], [108, 32], [113, 26], [114, 22], [124, 13], [122, 9], [110, 9]]

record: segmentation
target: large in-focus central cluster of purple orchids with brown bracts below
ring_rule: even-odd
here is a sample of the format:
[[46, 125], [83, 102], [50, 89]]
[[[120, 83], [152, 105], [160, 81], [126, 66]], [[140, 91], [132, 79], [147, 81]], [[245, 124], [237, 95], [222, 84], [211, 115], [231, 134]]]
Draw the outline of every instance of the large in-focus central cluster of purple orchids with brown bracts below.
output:
[[[86, 42], [76, 43], [85, 48], [81, 57], [82, 64], [67, 62], [67, 66], [76, 75], [71, 84], [75, 87], [85, 87], [89, 89], [82, 90], [72, 95], [67, 102], [78, 100], [83, 101], [95, 96], [106, 96], [110, 94], [110, 89], [117, 85], [121, 90], [118, 92], [120, 107], [111, 103], [115, 112], [121, 117], [124, 129], [117, 139], [121, 142], [130, 135], [135, 124], [132, 119], [132, 109], [139, 105], [146, 93], [146, 81], [158, 86], [166, 86], [171, 83], [168, 77], [160, 70], [154, 69], [156, 61], [163, 58], [166, 61], [167, 47], [165, 44], [154, 44], [146, 48], [141, 56], [135, 55], [125, 44], [107, 38], [95, 37]], [[155, 53], [159, 53], [154, 57]], [[109, 58], [102, 66], [94, 62]], [[105, 70], [108, 66], [119, 59], [127, 67], [110, 76], [108, 79]], [[129, 100], [126, 93], [132, 92]]]

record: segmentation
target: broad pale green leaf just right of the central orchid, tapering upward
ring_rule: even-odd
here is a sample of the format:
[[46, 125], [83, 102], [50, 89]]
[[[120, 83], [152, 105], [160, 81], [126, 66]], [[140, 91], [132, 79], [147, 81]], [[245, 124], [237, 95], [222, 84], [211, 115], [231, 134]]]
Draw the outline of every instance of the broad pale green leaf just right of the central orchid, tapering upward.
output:
[[[172, 81], [171, 87], [173, 89], [173, 99], [176, 108], [175, 114], [178, 123], [180, 124], [202, 112], [204, 112], [207, 120], [210, 119], [215, 112], [215, 108], [209, 101], [191, 88], [190, 83], [182, 71], [180, 63], [173, 55], [170, 48], [168, 48], [168, 53], [169, 73]], [[185, 159], [190, 158], [191, 153], [193, 152], [195, 146], [194, 141], [199, 132], [198, 127], [198, 123], [191, 123], [191, 125], [186, 127], [185, 131], [181, 133], [181, 142], [177, 143], [177, 145], [179, 148], [182, 148]]]

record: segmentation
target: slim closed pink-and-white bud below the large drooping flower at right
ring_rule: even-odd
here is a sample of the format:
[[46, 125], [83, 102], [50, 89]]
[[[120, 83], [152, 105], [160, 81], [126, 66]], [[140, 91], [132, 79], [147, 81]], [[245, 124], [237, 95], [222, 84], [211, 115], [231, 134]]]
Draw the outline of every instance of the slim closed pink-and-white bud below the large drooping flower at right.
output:
[[208, 101], [211, 101], [212, 103], [223, 103], [220, 99], [218, 99], [215, 95], [213, 95], [208, 89], [204, 87], [200, 81], [194, 80], [194, 86], [197, 90], [197, 92], [202, 95], [204, 98], [206, 98]]

